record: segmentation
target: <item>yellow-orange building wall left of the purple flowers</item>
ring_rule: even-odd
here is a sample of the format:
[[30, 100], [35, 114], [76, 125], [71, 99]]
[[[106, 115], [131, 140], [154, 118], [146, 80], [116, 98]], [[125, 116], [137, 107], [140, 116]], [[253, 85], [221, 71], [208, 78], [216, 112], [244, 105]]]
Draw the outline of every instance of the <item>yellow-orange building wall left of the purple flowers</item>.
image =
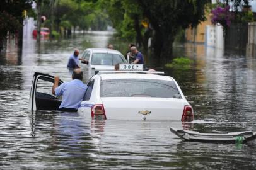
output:
[[206, 29], [206, 25], [212, 25], [211, 24], [211, 16], [208, 14], [206, 16], [207, 20], [201, 22], [199, 25], [197, 25], [197, 28], [187, 28], [185, 31], [185, 37], [186, 40], [189, 42], [197, 42], [197, 43], [204, 43], [204, 33]]

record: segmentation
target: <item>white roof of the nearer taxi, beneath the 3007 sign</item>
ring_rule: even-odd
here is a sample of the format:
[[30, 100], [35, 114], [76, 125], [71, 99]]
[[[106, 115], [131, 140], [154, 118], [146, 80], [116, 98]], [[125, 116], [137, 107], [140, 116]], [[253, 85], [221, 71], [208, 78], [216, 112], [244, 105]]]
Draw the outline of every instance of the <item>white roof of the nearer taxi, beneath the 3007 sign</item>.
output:
[[102, 80], [111, 80], [111, 79], [157, 79], [172, 81], [170, 76], [161, 76], [157, 74], [139, 74], [139, 73], [115, 73], [115, 74], [99, 74]]

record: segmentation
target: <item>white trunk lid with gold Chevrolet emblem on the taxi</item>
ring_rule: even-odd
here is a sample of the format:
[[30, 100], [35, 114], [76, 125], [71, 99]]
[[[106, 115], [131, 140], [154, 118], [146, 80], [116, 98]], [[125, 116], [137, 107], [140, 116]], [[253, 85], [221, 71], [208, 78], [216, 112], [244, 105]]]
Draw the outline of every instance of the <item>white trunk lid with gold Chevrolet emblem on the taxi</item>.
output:
[[185, 101], [175, 98], [101, 98], [107, 119], [181, 120]]

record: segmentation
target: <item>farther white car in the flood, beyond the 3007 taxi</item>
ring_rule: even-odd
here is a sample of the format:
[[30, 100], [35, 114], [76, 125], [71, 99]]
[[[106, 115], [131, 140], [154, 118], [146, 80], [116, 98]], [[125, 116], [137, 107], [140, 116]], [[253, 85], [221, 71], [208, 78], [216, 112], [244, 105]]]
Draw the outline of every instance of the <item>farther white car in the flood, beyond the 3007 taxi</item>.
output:
[[86, 64], [81, 64], [82, 68], [87, 67], [98, 71], [114, 70], [115, 64], [127, 63], [119, 51], [107, 48], [88, 48], [81, 54], [81, 58], [88, 61]]

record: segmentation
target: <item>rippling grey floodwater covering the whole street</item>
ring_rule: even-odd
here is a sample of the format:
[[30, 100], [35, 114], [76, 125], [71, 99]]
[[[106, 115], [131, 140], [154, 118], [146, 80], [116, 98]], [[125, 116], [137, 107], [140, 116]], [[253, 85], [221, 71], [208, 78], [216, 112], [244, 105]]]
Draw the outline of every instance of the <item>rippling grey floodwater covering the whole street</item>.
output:
[[[194, 60], [192, 69], [164, 69], [194, 108], [195, 121], [84, 120], [78, 113], [29, 111], [34, 72], [70, 81], [66, 68], [74, 48], [106, 47], [107, 32], [58, 41], [23, 40], [18, 55], [0, 57], [0, 169], [255, 169], [256, 140], [247, 144], [183, 142], [169, 127], [201, 132], [256, 131], [256, 59], [185, 43], [175, 55]], [[82, 65], [85, 80], [91, 74]], [[46, 89], [43, 89], [46, 90]]]

